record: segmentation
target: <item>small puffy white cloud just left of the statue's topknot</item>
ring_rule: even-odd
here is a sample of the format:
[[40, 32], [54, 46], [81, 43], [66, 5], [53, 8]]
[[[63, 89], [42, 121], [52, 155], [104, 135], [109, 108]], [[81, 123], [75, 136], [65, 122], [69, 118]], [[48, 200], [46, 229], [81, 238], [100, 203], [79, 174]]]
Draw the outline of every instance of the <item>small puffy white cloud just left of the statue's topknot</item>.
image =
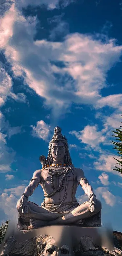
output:
[[50, 133], [50, 125], [46, 124], [43, 120], [38, 121], [36, 126], [31, 125], [32, 135], [45, 141], [48, 140]]

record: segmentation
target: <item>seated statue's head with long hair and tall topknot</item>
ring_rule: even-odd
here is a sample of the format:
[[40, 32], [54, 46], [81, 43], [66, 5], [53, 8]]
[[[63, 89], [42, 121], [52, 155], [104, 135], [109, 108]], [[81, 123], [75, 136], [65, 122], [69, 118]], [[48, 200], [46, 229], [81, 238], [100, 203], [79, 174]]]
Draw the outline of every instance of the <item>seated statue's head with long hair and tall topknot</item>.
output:
[[61, 128], [58, 126], [54, 128], [54, 135], [49, 142], [46, 165], [51, 165], [53, 163], [53, 158], [55, 160], [64, 158], [64, 164], [72, 164], [67, 139], [61, 134]]

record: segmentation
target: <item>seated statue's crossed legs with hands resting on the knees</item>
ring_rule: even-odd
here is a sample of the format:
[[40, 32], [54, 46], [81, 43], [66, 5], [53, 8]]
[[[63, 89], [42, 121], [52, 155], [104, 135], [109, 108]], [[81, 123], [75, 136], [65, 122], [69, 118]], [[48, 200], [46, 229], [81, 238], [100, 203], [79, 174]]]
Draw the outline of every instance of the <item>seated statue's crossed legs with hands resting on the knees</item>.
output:
[[23, 222], [30, 222], [31, 228], [38, 228], [47, 225], [75, 224], [79, 220], [84, 220], [96, 215], [101, 211], [101, 208], [101, 202], [96, 200], [94, 212], [89, 211], [89, 201], [84, 202], [78, 207], [71, 205], [71, 209], [69, 209], [69, 211], [65, 209], [63, 212], [53, 212], [44, 207], [40, 207], [37, 204], [28, 202], [28, 213], [24, 215], [20, 208], [20, 200], [17, 202], [18, 213], [20, 214]]

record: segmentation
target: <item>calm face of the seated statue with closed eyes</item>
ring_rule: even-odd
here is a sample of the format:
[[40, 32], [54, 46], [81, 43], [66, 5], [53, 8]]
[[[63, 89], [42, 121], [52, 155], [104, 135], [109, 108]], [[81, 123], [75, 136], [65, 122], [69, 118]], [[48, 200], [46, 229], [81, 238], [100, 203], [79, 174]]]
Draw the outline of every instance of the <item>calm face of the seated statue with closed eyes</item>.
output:
[[55, 160], [64, 158], [65, 146], [63, 142], [53, 142], [51, 147], [51, 155]]

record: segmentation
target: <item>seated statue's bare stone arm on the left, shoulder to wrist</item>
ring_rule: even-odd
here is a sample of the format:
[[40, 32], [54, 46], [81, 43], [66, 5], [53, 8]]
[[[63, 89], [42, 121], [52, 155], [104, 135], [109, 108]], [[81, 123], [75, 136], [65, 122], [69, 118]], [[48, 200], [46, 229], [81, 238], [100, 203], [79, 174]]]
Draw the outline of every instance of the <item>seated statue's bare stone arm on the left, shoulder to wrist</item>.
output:
[[37, 170], [33, 173], [33, 177], [30, 180], [29, 185], [25, 188], [24, 194], [27, 197], [30, 197], [36, 187], [38, 187], [39, 183], [41, 182], [41, 170]]

